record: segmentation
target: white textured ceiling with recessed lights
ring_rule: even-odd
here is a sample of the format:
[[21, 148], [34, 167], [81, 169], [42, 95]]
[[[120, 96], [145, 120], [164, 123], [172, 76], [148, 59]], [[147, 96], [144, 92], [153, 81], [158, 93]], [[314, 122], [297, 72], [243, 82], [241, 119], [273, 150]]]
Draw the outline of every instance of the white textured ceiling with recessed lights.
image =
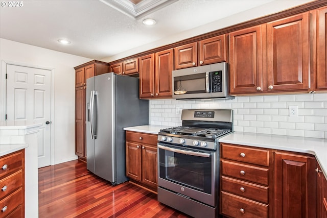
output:
[[[102, 60], [151, 43], [164, 45], [155, 42], [165, 43], [181, 32], [190, 33], [182, 39], [192, 37], [192, 30], [256, 7], [272, 3], [289, 7], [310, 0], [179, 0], [137, 19], [99, 0], [22, 2], [20, 8], [0, 7], [1, 38]], [[154, 18], [157, 23], [146, 27], [143, 18]], [[60, 38], [72, 43], [59, 44]]]

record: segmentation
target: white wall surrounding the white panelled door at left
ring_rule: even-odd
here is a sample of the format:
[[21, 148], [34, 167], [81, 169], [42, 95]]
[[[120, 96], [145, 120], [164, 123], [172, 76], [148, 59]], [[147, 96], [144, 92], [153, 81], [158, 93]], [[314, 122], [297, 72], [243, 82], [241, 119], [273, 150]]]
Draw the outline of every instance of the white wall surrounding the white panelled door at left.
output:
[[[58, 46], [61, 46], [58, 44]], [[75, 66], [91, 59], [43, 49], [6, 39], [0, 39], [0, 60], [21, 65], [54, 69], [53, 75], [53, 148], [52, 164], [76, 159], [75, 155]], [[1, 66], [0, 70], [3, 71]], [[0, 90], [3, 92], [6, 72], [0, 71]], [[0, 107], [4, 111], [3, 96]], [[1, 119], [0, 119], [1, 120]]]

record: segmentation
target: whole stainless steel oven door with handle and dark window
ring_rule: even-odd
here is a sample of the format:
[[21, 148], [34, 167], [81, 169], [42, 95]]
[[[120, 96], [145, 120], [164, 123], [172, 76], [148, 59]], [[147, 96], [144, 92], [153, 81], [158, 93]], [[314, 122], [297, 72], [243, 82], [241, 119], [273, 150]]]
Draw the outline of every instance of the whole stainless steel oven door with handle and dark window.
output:
[[158, 186], [215, 207], [217, 152], [158, 143]]

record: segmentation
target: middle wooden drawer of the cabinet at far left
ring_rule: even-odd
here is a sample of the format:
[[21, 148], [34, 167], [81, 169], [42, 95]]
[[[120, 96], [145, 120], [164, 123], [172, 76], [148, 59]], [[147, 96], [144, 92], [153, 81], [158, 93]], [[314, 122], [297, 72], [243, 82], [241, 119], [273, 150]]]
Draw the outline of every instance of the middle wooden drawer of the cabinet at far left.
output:
[[5, 177], [0, 180], [0, 199], [4, 198], [13, 190], [22, 186], [22, 171], [20, 171]]

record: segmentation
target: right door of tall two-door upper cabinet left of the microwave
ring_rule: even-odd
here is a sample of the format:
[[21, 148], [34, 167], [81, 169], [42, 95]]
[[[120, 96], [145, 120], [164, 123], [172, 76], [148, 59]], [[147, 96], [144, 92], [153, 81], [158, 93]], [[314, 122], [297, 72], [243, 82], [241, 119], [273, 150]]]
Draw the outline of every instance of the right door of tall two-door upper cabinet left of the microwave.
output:
[[172, 98], [172, 71], [174, 70], [174, 50], [155, 54], [155, 96]]

